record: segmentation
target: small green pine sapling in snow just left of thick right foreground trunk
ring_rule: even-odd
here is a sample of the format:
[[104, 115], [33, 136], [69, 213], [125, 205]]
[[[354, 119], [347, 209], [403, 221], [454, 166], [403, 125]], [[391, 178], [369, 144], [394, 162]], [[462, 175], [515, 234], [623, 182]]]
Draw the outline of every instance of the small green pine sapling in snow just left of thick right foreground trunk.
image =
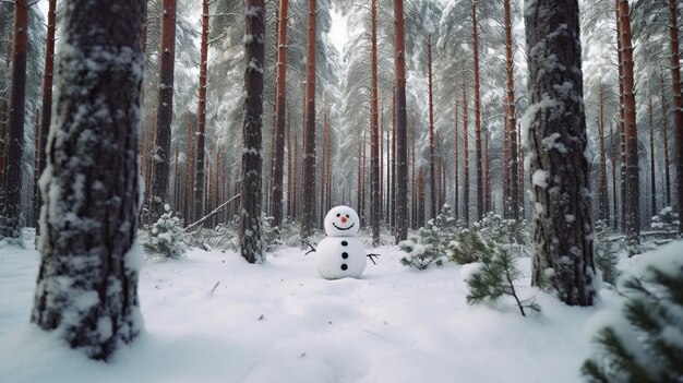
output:
[[467, 303], [495, 303], [502, 297], [510, 296], [515, 298], [523, 316], [526, 316], [525, 309], [540, 311], [540, 307], [532, 299], [519, 299], [515, 290], [515, 280], [520, 276], [513, 255], [506, 250], [495, 251], [492, 256], [483, 260], [481, 267], [467, 280], [469, 287]]

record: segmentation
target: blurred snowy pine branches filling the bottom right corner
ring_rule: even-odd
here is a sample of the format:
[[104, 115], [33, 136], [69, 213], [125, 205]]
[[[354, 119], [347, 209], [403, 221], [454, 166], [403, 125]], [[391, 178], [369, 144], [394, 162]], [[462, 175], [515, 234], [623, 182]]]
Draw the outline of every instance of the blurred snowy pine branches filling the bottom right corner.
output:
[[621, 283], [627, 323], [601, 328], [582, 367], [589, 382], [683, 382], [683, 259], [650, 265]]

